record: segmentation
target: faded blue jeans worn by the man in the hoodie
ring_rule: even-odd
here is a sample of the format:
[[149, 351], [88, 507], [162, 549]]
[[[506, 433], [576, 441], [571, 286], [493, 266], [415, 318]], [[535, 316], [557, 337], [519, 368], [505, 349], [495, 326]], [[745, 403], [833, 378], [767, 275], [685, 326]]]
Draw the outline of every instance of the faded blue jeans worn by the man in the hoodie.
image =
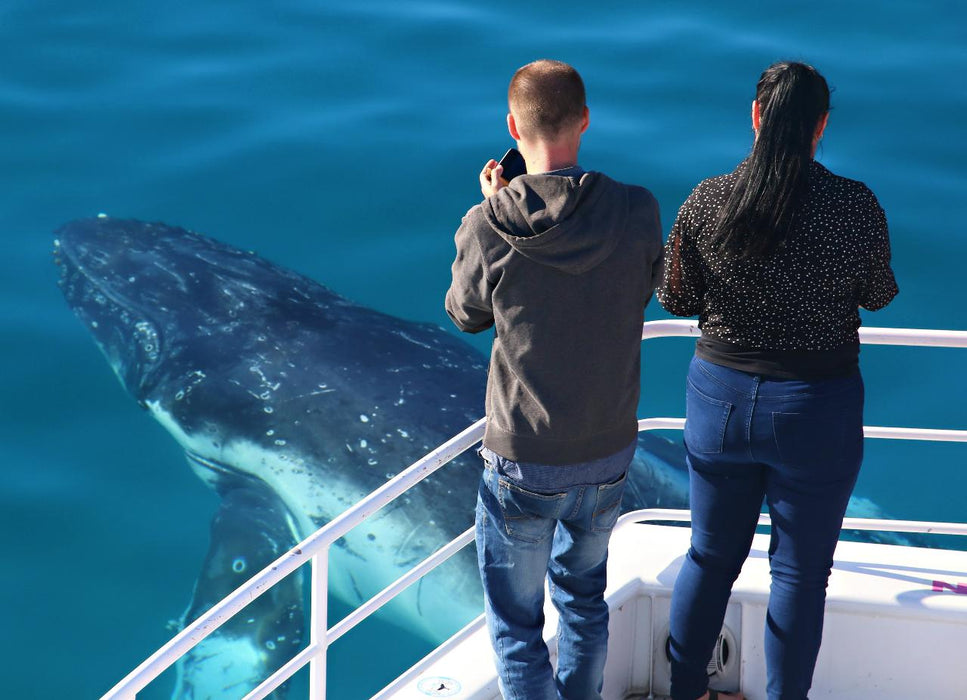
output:
[[[608, 540], [634, 451], [632, 443], [605, 459], [549, 467], [481, 448], [486, 468], [477, 497], [477, 561], [506, 700], [600, 699]], [[509, 476], [522, 472], [523, 481]], [[536, 485], [527, 483], [528, 472]], [[573, 483], [575, 474], [594, 473], [611, 481]], [[554, 481], [567, 485], [554, 487]], [[545, 577], [560, 613], [556, 678], [542, 635]]]

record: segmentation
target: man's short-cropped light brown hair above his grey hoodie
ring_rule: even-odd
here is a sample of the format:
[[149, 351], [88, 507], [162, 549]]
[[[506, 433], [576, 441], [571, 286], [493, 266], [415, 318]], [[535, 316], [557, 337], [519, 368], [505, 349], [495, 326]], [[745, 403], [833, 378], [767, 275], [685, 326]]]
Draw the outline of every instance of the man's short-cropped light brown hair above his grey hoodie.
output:
[[541, 59], [514, 73], [507, 103], [524, 138], [552, 139], [584, 117], [584, 82], [571, 66]]

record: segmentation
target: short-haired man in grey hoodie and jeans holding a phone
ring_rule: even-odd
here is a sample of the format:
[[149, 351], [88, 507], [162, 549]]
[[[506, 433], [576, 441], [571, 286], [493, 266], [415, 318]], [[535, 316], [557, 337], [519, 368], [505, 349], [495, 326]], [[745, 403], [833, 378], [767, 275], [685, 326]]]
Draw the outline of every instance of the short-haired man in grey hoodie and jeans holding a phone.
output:
[[[641, 324], [661, 268], [658, 204], [577, 163], [588, 127], [571, 66], [519, 69], [507, 126], [527, 163], [491, 160], [456, 233], [446, 310], [496, 328], [476, 538], [501, 692], [600, 698], [608, 540], [634, 454]], [[558, 668], [543, 642], [544, 579], [560, 612]]]

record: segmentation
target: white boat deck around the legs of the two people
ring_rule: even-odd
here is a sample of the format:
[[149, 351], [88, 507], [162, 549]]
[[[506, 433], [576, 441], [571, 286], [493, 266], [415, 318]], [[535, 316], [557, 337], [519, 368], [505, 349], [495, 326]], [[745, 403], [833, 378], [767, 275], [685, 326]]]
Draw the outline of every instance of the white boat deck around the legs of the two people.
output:
[[[615, 529], [607, 598], [611, 640], [606, 700], [662, 698], [671, 589], [689, 529], [623, 520]], [[769, 591], [768, 535], [756, 535], [733, 589], [712, 686], [765, 699], [762, 630]], [[967, 552], [841, 541], [827, 594], [811, 698], [944, 700], [967, 697]], [[556, 612], [545, 637], [554, 656]], [[653, 650], [658, 653], [653, 654]], [[714, 667], [714, 668], [713, 668]], [[653, 693], [650, 695], [650, 693]], [[499, 700], [486, 626], [478, 618], [376, 698]]]

